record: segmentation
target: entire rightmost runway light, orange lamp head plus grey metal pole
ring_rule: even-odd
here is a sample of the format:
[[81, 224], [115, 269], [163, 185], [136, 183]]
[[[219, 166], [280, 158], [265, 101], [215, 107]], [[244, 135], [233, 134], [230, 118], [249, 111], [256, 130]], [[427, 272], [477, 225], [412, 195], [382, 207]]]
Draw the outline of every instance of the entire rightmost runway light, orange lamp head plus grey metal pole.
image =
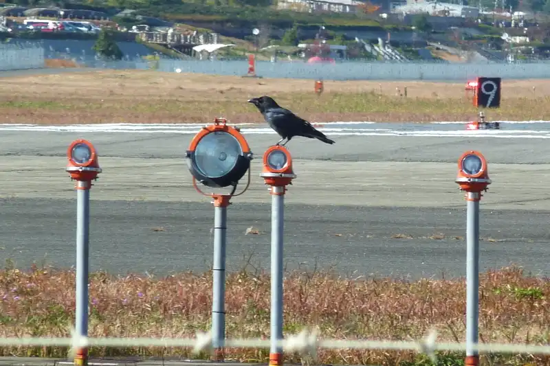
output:
[[466, 209], [466, 366], [479, 365], [479, 201], [491, 184], [481, 152], [468, 151], [459, 159], [456, 183], [465, 191]]

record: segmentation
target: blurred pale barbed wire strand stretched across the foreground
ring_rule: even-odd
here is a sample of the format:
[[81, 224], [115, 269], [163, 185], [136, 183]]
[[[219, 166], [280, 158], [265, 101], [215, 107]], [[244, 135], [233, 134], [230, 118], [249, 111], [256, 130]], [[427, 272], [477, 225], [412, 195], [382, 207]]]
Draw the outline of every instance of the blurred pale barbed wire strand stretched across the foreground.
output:
[[[212, 336], [210, 332], [197, 332], [195, 338], [89, 338], [79, 336], [72, 329], [72, 336], [67, 338], [0, 338], [0, 346], [61, 346], [69, 347], [69, 357], [74, 356], [79, 348], [99, 347], [190, 347], [194, 354], [209, 352], [214, 354]], [[270, 339], [225, 339], [225, 348], [270, 348]], [[432, 361], [437, 362], [435, 352], [465, 352], [466, 343], [437, 342], [437, 332], [431, 330], [423, 339], [418, 341], [369, 341], [347, 339], [321, 339], [317, 330], [302, 330], [277, 342], [285, 353], [298, 353], [311, 356], [317, 360], [319, 349], [324, 350], [401, 350], [426, 354]], [[550, 345], [530, 345], [513, 343], [477, 343], [471, 345], [470, 350], [479, 354], [529, 354], [550, 355]]]

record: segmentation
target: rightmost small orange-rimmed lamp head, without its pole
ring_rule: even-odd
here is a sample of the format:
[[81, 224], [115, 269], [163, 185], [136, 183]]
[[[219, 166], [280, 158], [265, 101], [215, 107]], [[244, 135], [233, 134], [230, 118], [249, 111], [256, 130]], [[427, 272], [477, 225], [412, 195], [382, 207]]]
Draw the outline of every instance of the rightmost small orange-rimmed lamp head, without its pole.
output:
[[480, 193], [491, 184], [485, 157], [478, 151], [467, 151], [459, 158], [459, 173], [456, 183], [465, 192]]

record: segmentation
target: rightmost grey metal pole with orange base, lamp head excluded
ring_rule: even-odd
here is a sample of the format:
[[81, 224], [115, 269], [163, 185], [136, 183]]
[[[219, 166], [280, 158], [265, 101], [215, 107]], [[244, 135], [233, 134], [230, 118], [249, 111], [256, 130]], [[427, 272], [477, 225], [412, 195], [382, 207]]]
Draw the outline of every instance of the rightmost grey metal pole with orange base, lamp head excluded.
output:
[[466, 365], [478, 365], [479, 313], [479, 200], [478, 192], [467, 192], [466, 214]]

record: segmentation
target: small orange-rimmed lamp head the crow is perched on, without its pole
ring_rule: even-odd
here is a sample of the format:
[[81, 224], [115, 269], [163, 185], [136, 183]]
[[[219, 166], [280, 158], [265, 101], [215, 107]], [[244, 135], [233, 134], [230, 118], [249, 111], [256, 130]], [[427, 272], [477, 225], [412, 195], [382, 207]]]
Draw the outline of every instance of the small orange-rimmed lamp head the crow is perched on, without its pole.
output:
[[296, 174], [292, 170], [292, 156], [285, 146], [274, 145], [265, 150], [260, 176], [265, 184], [272, 187], [284, 187], [292, 184], [292, 179], [296, 178]]

